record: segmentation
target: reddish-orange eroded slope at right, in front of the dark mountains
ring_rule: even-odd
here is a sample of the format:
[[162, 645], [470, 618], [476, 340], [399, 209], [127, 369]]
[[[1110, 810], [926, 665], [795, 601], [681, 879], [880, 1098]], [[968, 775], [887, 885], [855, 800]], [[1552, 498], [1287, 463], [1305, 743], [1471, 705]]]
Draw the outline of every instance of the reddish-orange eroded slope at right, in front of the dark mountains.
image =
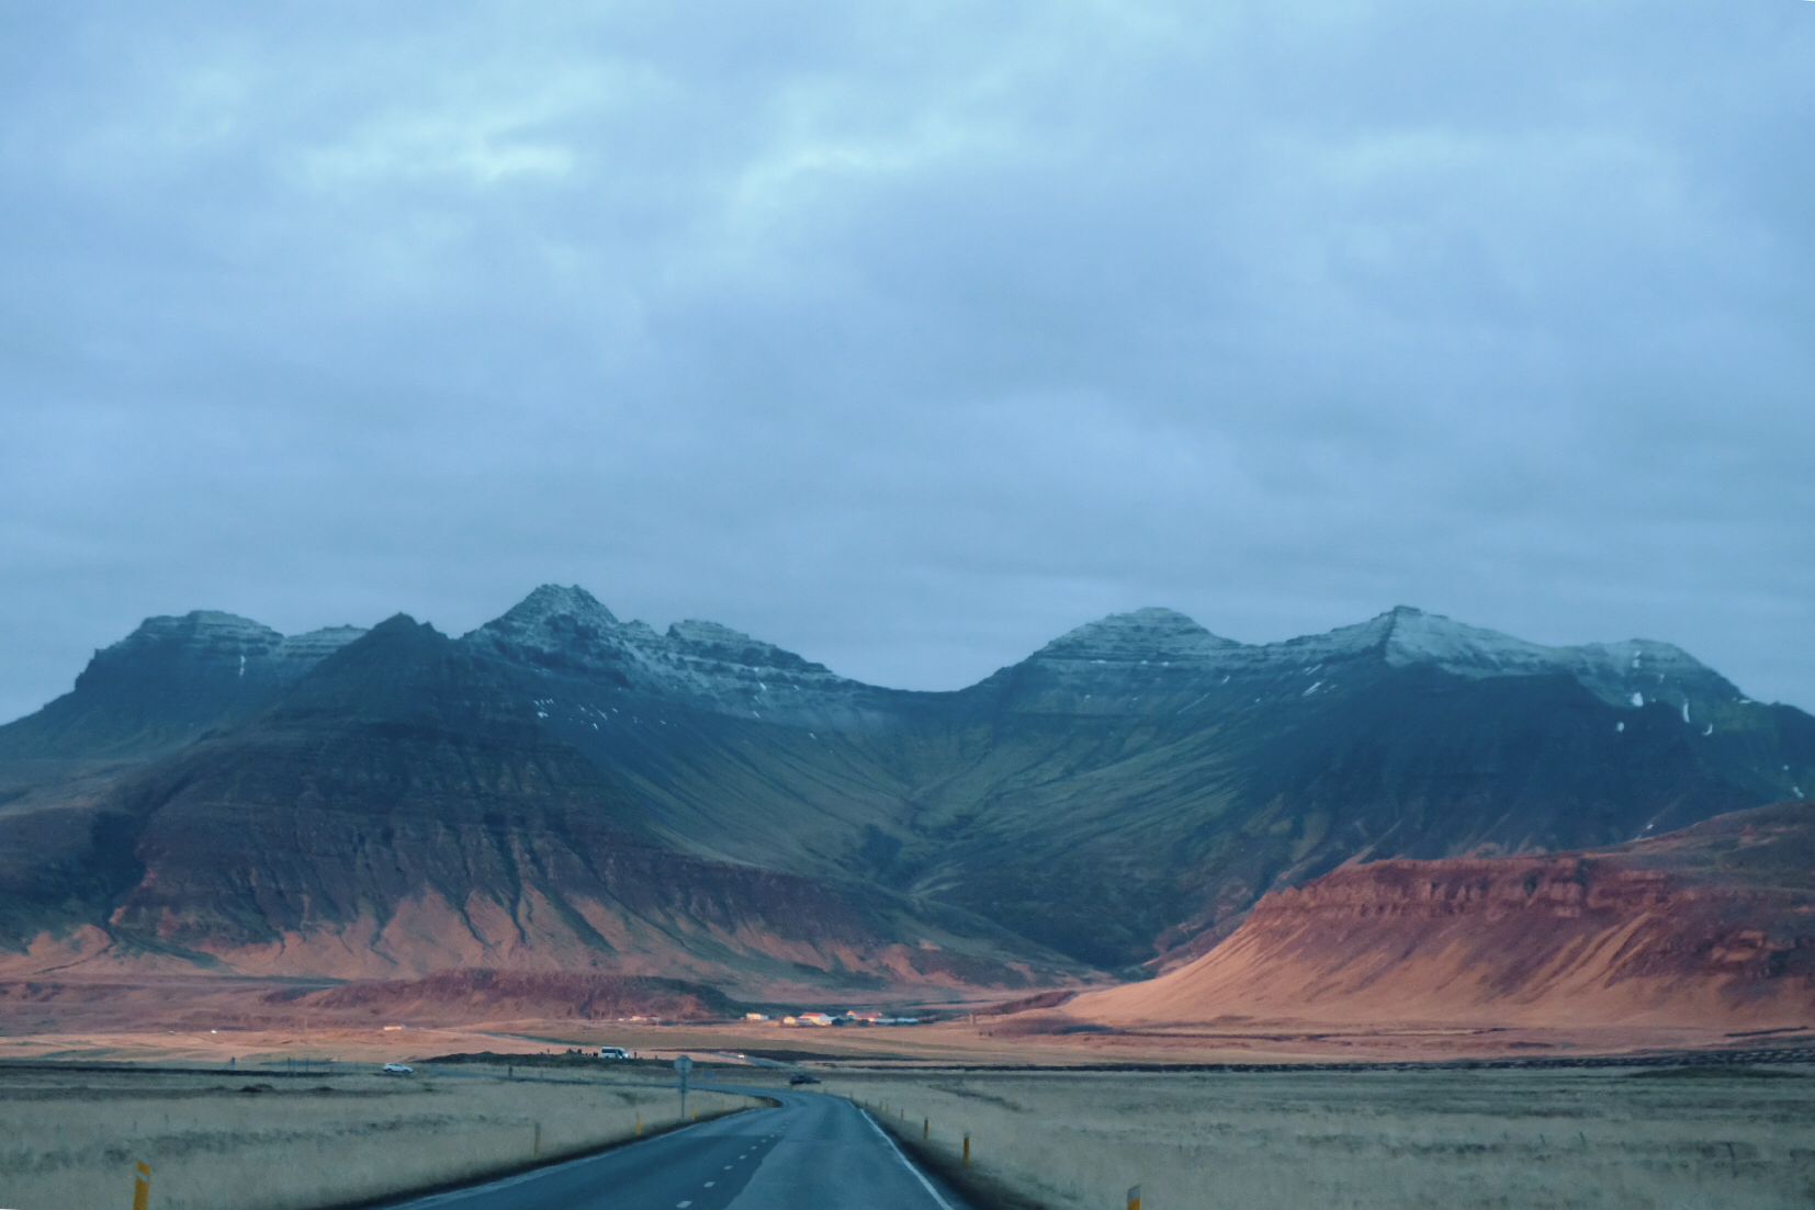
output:
[[1347, 865], [1269, 894], [1203, 958], [1065, 1005], [1541, 1027], [1815, 1023], [1815, 802], [1612, 849]]

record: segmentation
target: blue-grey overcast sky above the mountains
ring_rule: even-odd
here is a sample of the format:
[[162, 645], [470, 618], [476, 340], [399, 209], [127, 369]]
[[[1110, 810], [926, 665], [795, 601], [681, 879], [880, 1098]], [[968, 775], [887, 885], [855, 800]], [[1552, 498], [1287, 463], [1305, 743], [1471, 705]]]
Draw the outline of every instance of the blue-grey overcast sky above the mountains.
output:
[[1815, 707], [1815, 4], [0, 0], [0, 718], [544, 581], [957, 688], [1109, 611]]

